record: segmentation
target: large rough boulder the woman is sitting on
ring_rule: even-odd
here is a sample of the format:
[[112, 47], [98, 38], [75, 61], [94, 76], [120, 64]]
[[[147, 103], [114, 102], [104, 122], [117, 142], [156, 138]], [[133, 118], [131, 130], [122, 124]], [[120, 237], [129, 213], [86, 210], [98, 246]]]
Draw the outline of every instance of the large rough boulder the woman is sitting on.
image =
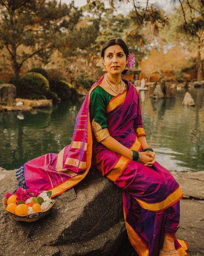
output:
[[[17, 188], [14, 171], [0, 180], [0, 194]], [[115, 255], [127, 240], [122, 193], [92, 170], [74, 189], [55, 198], [50, 213], [35, 222], [12, 221], [0, 205], [3, 256]], [[131, 249], [130, 249], [131, 250]]]

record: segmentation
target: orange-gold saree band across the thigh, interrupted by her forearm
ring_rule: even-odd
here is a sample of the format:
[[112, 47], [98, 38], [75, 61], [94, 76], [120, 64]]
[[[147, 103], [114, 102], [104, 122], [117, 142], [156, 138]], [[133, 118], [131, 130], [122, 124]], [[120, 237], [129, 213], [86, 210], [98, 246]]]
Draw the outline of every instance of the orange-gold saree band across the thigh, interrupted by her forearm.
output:
[[[135, 142], [130, 149], [136, 151], [141, 149], [141, 143], [139, 142], [137, 136], [135, 136]], [[126, 166], [129, 164], [130, 161], [131, 160], [128, 157], [121, 156], [116, 162], [113, 169], [106, 175], [106, 177], [115, 182], [122, 174], [122, 172], [126, 169]]]

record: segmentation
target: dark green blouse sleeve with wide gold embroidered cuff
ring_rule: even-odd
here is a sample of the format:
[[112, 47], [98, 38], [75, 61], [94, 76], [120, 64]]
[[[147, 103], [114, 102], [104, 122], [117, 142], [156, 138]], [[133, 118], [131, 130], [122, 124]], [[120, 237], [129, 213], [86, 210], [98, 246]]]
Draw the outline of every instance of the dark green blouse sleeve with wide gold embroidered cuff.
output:
[[93, 90], [91, 92], [89, 112], [91, 128], [97, 142], [110, 136], [107, 125], [106, 105], [105, 97], [100, 92]]

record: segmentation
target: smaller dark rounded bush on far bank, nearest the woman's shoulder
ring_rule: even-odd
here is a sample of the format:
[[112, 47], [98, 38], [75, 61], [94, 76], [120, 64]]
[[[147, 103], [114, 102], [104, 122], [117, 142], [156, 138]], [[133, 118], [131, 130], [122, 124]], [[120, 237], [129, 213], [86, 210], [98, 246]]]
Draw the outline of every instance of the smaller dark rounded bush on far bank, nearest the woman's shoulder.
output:
[[52, 80], [50, 81], [50, 90], [55, 92], [62, 100], [74, 99], [77, 96], [77, 92], [74, 86], [64, 80]]

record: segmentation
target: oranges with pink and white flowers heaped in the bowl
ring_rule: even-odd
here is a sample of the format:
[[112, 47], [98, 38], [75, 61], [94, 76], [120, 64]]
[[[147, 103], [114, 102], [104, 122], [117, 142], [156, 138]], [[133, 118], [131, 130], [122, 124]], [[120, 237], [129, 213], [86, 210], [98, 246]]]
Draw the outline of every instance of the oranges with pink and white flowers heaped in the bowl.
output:
[[6, 210], [19, 216], [47, 211], [52, 206], [52, 192], [19, 187], [16, 192], [6, 193]]

